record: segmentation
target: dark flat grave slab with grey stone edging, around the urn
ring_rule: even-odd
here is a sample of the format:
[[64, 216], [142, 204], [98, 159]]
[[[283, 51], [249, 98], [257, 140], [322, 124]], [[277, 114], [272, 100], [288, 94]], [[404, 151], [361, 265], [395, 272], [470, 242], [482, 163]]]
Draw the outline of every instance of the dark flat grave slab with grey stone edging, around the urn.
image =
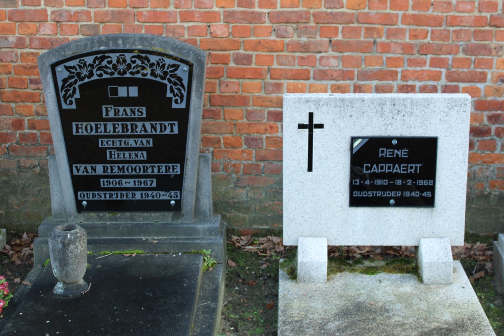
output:
[[[56, 296], [51, 266], [7, 309], [1, 335], [215, 335], [224, 269], [202, 272], [201, 254], [89, 255], [89, 291]], [[14, 300], [14, 299], [13, 299]], [[13, 302], [15, 303], [15, 302]]]

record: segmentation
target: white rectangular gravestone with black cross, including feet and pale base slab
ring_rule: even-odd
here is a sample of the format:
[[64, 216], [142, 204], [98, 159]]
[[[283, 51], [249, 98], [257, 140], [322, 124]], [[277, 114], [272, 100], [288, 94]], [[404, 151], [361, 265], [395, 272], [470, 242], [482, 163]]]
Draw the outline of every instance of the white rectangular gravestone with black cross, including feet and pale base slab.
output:
[[[474, 292], [455, 290], [471, 287], [451, 253], [464, 244], [470, 102], [461, 94], [284, 95], [283, 239], [298, 255], [297, 281], [280, 277], [279, 334], [405, 334], [397, 314], [418, 326], [410, 334], [437, 334], [437, 325], [467, 317], [440, 310], [463, 302], [482, 316], [476, 330], [492, 334]], [[418, 246], [422, 282], [327, 281], [328, 245]], [[404, 293], [393, 295], [398, 286]], [[404, 300], [434, 316], [415, 321]], [[366, 324], [371, 317], [377, 324]]]

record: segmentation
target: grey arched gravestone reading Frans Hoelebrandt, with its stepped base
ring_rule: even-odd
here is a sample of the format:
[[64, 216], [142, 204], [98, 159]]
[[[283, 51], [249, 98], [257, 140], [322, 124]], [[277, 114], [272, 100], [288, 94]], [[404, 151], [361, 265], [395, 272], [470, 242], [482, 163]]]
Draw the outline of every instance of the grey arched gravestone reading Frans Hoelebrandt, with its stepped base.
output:
[[[176, 253], [167, 267], [199, 265], [187, 280], [195, 292], [184, 320], [191, 334], [217, 330], [226, 259], [225, 226], [212, 212], [210, 155], [200, 154], [206, 60], [192, 45], [136, 34], [79, 39], [38, 58], [55, 156], [49, 157], [52, 216], [39, 227], [35, 264], [49, 257], [51, 230], [66, 223], [86, 230], [93, 253]], [[201, 256], [183, 254], [201, 250], [218, 263], [211, 274], [201, 275]], [[111, 270], [123, 267], [109, 260]], [[153, 276], [156, 264], [137, 271], [163, 286], [185, 281], [181, 275], [180, 284], [165, 284], [162, 273]], [[201, 298], [209, 304], [196, 309]]]

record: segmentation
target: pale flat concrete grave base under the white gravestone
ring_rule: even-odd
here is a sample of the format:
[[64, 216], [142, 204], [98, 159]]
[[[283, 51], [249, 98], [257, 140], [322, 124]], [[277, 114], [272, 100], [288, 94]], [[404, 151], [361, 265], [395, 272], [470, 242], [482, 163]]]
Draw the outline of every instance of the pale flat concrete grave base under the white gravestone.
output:
[[280, 271], [278, 335], [495, 335], [459, 261], [451, 285], [413, 275], [336, 274], [297, 283]]

